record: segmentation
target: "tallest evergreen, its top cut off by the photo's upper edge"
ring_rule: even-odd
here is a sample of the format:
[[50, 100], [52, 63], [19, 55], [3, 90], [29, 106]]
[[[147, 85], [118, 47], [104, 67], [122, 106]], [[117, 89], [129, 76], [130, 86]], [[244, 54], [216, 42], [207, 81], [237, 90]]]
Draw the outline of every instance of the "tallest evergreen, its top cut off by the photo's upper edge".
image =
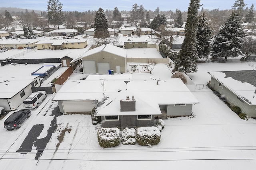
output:
[[175, 69], [179, 72], [192, 73], [197, 71], [198, 53], [196, 49], [196, 33], [198, 23], [198, 10], [200, 0], [190, 0], [188, 17], [185, 25], [185, 37], [179, 53], [179, 59], [175, 62]]

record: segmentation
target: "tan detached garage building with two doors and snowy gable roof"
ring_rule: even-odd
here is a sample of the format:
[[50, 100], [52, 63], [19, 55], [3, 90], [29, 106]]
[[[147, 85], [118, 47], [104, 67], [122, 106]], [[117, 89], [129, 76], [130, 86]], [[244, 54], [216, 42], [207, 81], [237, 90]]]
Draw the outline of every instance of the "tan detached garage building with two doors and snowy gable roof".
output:
[[81, 60], [84, 73], [115, 73], [126, 72], [126, 49], [114, 45], [102, 45], [84, 53], [80, 58], [71, 63]]

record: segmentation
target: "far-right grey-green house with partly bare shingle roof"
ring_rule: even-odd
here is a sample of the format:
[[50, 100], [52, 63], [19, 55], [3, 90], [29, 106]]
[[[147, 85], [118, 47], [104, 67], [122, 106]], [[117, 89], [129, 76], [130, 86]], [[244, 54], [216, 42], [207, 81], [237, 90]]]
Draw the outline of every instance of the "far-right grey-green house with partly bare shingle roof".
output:
[[208, 72], [211, 87], [248, 117], [256, 117], [256, 70]]

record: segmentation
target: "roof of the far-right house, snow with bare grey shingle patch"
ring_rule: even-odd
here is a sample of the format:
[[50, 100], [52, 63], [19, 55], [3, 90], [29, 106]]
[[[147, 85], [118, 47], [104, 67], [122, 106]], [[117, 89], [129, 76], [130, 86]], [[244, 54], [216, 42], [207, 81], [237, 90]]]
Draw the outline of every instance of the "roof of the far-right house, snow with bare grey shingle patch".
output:
[[209, 74], [249, 105], [256, 104], [256, 70], [209, 72]]

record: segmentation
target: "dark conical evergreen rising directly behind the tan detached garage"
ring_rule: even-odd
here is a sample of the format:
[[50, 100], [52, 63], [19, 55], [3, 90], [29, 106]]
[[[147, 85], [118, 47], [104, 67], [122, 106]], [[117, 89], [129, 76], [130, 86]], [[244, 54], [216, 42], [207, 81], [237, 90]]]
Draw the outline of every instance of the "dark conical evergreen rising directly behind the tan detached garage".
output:
[[102, 8], [98, 9], [94, 19], [95, 38], [106, 39], [109, 37], [108, 33], [108, 20], [106, 19], [105, 12]]

